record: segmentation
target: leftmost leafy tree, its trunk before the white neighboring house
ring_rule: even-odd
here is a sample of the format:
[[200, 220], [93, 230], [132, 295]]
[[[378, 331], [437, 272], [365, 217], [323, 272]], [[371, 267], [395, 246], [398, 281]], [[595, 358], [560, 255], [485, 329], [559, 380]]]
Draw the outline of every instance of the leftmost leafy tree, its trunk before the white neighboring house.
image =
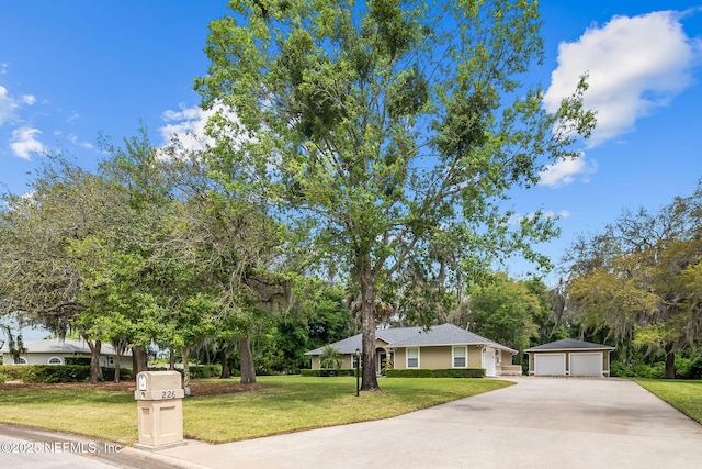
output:
[[86, 301], [75, 250], [95, 233], [120, 225], [126, 200], [114, 187], [56, 156], [25, 196], [4, 197], [0, 211], [0, 291], [8, 312], [65, 336], [81, 335], [91, 351], [91, 382], [102, 379], [101, 342], [84, 320], [104, 314]]

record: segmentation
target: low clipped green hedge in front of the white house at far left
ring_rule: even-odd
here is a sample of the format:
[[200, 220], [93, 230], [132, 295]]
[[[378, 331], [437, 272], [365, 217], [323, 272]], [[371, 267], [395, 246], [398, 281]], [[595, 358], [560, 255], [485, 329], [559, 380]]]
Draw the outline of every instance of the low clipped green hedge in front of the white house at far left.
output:
[[[24, 382], [83, 382], [90, 381], [90, 367], [84, 365], [4, 365], [0, 375]], [[114, 368], [102, 368], [105, 381], [114, 380]], [[121, 379], [132, 378], [129, 368], [120, 370]]]

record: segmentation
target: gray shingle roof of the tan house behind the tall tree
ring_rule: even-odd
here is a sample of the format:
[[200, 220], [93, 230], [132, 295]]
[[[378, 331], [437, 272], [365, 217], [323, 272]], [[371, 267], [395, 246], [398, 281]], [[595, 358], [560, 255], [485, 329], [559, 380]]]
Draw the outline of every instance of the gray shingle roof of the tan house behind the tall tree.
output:
[[[471, 331], [462, 330], [453, 324], [432, 326], [429, 331], [422, 327], [397, 327], [375, 331], [375, 337], [386, 342], [390, 348], [428, 347], [438, 345], [490, 345], [501, 350], [517, 353], [495, 340], [479, 336]], [[341, 354], [353, 354], [361, 348], [361, 334], [331, 344]], [[316, 348], [305, 355], [321, 355], [324, 347]]]

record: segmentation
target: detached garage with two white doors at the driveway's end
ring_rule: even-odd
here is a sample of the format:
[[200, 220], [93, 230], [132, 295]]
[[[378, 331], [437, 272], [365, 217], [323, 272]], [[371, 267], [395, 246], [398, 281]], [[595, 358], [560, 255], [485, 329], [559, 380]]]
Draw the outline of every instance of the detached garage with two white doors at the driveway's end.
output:
[[529, 375], [534, 376], [610, 376], [610, 354], [614, 347], [564, 338], [531, 347]]

